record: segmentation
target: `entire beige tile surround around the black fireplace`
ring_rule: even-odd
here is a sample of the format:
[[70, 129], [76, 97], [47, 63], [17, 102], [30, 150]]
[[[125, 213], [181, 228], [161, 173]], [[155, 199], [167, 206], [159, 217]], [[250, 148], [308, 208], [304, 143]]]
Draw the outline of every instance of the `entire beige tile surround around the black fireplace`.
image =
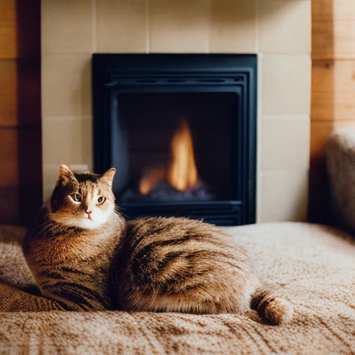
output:
[[311, 0], [42, 0], [44, 198], [61, 162], [92, 168], [92, 53], [257, 53], [257, 219], [304, 220], [310, 18]]

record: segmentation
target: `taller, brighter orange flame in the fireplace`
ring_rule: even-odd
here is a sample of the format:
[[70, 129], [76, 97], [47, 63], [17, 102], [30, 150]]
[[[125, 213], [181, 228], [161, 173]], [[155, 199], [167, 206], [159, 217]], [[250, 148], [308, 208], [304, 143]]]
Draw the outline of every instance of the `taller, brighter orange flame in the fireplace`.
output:
[[191, 189], [198, 182], [198, 172], [189, 124], [184, 118], [173, 135], [171, 154], [172, 161], [168, 169], [169, 184], [178, 191]]

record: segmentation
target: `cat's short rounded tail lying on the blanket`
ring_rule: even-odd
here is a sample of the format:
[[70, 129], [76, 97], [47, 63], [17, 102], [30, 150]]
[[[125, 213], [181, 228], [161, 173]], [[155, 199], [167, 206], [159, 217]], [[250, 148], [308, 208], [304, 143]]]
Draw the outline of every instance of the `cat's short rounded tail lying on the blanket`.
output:
[[258, 288], [252, 295], [250, 307], [259, 313], [261, 319], [268, 324], [289, 322], [293, 316], [293, 306], [273, 291]]

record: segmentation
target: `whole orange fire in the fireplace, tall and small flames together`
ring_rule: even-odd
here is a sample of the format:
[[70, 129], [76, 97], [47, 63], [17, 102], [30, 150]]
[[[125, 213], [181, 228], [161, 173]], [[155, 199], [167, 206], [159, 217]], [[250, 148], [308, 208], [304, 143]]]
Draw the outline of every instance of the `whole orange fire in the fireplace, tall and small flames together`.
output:
[[192, 189], [198, 182], [198, 171], [193, 155], [193, 143], [189, 123], [182, 118], [178, 130], [171, 141], [171, 162], [168, 171], [155, 168], [139, 182], [139, 192], [148, 195], [159, 182], [167, 180], [174, 189], [185, 191]]

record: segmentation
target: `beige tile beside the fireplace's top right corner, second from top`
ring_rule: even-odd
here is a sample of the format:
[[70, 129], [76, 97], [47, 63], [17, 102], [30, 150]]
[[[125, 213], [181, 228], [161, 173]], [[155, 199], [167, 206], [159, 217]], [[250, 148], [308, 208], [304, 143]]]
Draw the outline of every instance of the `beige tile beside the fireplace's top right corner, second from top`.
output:
[[306, 114], [311, 106], [308, 55], [263, 55], [263, 114]]

